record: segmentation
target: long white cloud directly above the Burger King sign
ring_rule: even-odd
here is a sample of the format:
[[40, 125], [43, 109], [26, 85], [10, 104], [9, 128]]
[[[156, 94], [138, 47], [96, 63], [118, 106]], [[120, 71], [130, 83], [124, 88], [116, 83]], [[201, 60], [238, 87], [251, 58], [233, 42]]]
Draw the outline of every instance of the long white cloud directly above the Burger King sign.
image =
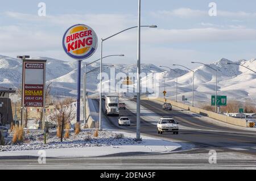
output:
[[61, 14], [38, 16], [20, 12], [6, 11], [4, 13], [12, 19], [22, 20], [23, 23], [43, 24], [44, 26], [59, 26], [68, 28], [73, 24], [89, 24], [103, 37], [115, 31], [137, 25], [137, 17], [129, 14]]

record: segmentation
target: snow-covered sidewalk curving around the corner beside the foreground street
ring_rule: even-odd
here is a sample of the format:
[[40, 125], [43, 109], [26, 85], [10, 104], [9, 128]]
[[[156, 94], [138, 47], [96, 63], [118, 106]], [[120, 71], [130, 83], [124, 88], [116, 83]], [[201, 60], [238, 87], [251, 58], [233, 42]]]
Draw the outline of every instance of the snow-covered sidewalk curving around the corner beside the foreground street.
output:
[[[128, 136], [126, 133], [125, 136]], [[130, 135], [134, 137], [134, 135]], [[151, 137], [142, 136], [143, 141], [138, 145], [118, 145], [118, 146], [94, 146], [85, 148], [67, 148], [67, 149], [46, 149], [46, 157], [54, 158], [72, 158], [72, 157], [97, 157], [112, 154], [146, 154], [146, 153], [167, 153], [181, 148], [179, 144], [170, 141], [158, 140]], [[2, 151], [0, 159], [9, 158], [32, 158], [39, 157], [39, 150], [19, 150]]]

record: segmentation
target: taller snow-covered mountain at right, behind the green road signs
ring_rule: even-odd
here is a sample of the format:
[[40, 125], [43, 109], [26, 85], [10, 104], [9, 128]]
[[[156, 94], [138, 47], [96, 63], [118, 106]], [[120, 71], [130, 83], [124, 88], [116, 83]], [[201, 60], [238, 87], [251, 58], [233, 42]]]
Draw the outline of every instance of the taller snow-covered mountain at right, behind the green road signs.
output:
[[[227, 65], [226, 63], [237, 63], [256, 70], [256, 59], [230, 61], [222, 58], [210, 67], [217, 69], [217, 94], [227, 95], [228, 100], [247, 100], [254, 104], [256, 100], [256, 74], [239, 65]], [[215, 94], [216, 72], [207, 66], [199, 66], [195, 70], [195, 103], [210, 103], [210, 96]], [[178, 78], [178, 100], [185, 95], [189, 102], [192, 100], [192, 79], [193, 73], [189, 72]], [[176, 99], [176, 79], [168, 78], [167, 97]], [[161, 86], [161, 91], [163, 87]]]

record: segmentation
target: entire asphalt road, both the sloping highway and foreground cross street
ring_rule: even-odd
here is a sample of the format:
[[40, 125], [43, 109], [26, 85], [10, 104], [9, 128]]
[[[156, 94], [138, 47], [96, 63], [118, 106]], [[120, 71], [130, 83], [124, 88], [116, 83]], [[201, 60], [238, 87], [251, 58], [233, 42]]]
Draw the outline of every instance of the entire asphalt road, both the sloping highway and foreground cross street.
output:
[[[93, 104], [98, 112], [97, 100], [93, 100]], [[256, 136], [254, 132], [210, 124], [175, 108], [173, 111], [164, 111], [161, 105], [155, 102], [142, 100], [142, 106], [160, 116], [173, 116], [180, 125], [191, 128], [191, 130], [180, 130], [178, 135], [157, 134], [156, 126], [142, 119], [141, 131], [143, 134], [176, 141], [180, 144], [193, 144], [195, 148], [166, 154], [47, 158], [46, 164], [39, 164], [37, 158], [0, 159], [0, 169], [256, 169], [256, 144], [254, 144]], [[108, 126], [117, 130], [135, 132], [136, 115], [130, 110], [121, 110], [120, 116], [130, 117], [131, 126], [120, 127], [117, 122], [118, 117], [111, 116], [106, 117]], [[201, 131], [194, 130], [194, 128], [200, 128]], [[210, 129], [213, 132], [204, 131], [204, 129]], [[209, 150], [216, 151], [215, 164], [209, 163]]]

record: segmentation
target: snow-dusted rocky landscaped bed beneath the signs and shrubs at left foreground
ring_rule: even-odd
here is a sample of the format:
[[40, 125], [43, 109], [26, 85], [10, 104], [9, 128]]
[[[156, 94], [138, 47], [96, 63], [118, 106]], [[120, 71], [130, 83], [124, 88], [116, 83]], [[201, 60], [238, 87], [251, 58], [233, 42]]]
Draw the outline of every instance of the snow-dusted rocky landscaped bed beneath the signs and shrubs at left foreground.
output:
[[133, 138], [125, 137], [123, 134], [113, 133], [110, 131], [98, 131], [98, 137], [94, 137], [95, 129], [83, 129], [75, 135], [70, 131], [69, 138], [56, 137], [56, 130], [50, 130], [47, 134], [47, 144], [44, 144], [44, 134], [41, 130], [25, 131], [23, 144], [13, 144], [11, 138], [13, 133], [7, 137], [7, 144], [0, 146], [0, 151], [17, 151], [17, 150], [41, 150], [41, 149], [63, 149], [63, 148], [85, 148], [91, 146], [117, 146], [117, 145], [138, 145]]

